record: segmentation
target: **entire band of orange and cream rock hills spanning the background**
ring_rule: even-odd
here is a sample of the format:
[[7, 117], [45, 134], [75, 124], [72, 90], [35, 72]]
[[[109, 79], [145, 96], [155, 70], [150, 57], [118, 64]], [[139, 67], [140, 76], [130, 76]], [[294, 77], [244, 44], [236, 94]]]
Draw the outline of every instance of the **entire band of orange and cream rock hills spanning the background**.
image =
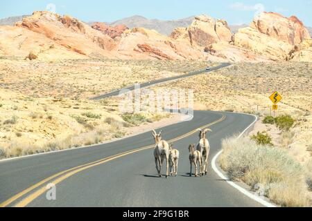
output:
[[15, 26], [0, 26], [0, 55], [42, 60], [312, 61], [311, 38], [303, 23], [276, 13], [262, 13], [234, 35], [227, 21], [207, 15], [195, 17], [189, 26], [175, 28], [168, 36], [129, 28], [89, 26], [67, 15], [34, 12]]

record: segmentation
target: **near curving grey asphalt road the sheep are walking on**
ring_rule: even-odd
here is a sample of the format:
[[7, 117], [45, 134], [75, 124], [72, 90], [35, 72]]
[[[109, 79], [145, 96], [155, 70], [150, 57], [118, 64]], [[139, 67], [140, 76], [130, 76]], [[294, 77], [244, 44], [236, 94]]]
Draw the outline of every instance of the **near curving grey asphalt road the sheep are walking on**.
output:
[[[213, 130], [208, 134], [211, 162], [223, 138], [241, 133], [252, 122], [251, 115], [194, 111], [190, 122], [162, 128], [164, 140], [180, 151], [178, 175], [168, 179], [157, 177], [150, 132], [87, 148], [0, 161], [0, 207], [262, 206], [220, 179], [210, 163], [207, 176], [189, 177], [188, 146], [198, 142], [198, 128]], [[56, 200], [46, 199], [46, 185], [51, 182], [56, 186]]]

